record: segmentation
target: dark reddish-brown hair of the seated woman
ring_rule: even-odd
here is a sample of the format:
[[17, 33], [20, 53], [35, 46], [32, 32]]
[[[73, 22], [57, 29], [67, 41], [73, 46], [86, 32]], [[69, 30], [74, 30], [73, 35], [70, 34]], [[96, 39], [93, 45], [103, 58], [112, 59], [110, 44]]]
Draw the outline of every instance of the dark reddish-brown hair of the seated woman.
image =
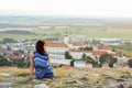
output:
[[38, 53], [38, 54], [41, 54], [41, 55], [43, 55], [44, 53], [46, 53], [46, 51], [45, 51], [45, 48], [44, 48], [44, 45], [45, 45], [45, 42], [44, 41], [37, 41], [36, 42], [36, 46], [35, 46], [35, 48], [36, 48], [36, 52]]

